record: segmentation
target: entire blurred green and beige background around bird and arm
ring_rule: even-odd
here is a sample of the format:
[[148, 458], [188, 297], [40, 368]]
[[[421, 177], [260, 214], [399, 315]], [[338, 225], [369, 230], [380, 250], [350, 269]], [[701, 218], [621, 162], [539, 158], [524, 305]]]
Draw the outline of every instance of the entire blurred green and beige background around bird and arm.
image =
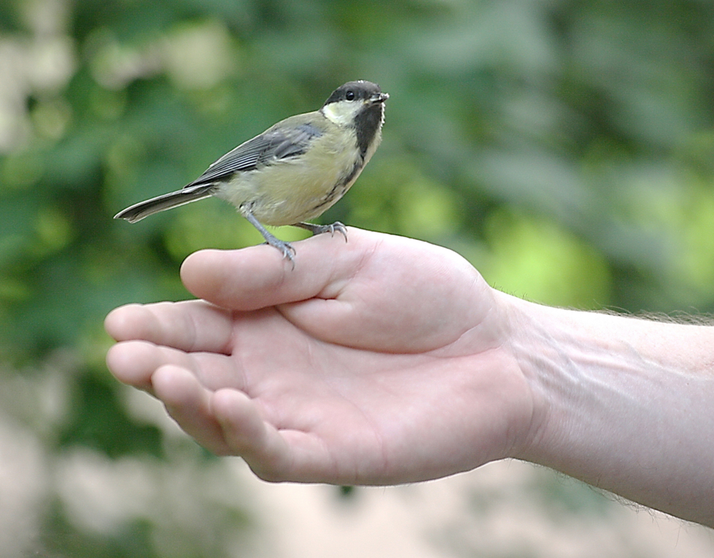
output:
[[714, 310], [711, 2], [3, 0], [0, 557], [714, 554], [518, 462], [266, 485], [109, 375], [111, 308], [189, 298], [186, 255], [262, 240], [217, 200], [112, 216], [357, 78], [391, 94], [384, 141], [323, 223], [447, 246], [541, 303]]

